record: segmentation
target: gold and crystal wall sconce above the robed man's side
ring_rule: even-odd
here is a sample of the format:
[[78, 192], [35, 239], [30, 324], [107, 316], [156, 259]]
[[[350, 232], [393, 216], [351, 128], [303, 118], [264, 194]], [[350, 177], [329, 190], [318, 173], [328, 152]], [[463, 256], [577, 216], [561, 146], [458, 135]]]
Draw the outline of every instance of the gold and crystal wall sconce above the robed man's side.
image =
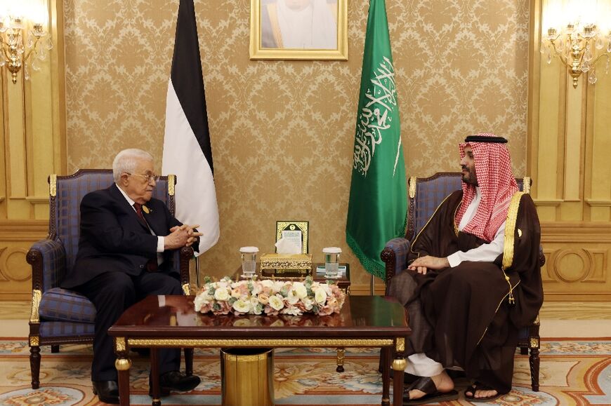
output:
[[543, 34], [541, 39], [541, 53], [546, 54], [548, 64], [553, 57], [560, 59], [569, 69], [573, 88], [577, 88], [582, 74], [586, 74], [588, 82], [593, 85], [598, 81], [598, 60], [605, 58], [605, 74], [609, 72], [611, 30], [601, 30], [595, 22], [581, 22], [579, 19], [568, 22], [563, 29], [548, 27], [547, 34]]

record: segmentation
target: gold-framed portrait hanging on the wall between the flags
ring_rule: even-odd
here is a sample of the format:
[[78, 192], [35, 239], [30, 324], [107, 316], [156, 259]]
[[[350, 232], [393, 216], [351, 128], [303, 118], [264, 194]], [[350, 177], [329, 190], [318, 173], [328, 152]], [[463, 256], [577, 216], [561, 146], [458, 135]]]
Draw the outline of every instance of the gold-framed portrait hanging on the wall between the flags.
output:
[[251, 0], [250, 58], [348, 60], [348, 0]]

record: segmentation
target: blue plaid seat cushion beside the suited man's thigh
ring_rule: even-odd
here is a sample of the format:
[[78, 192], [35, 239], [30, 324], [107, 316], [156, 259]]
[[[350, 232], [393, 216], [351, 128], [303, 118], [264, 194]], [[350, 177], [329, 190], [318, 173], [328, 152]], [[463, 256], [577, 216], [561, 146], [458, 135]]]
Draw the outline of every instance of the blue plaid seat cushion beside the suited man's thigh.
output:
[[77, 292], [53, 287], [42, 295], [39, 315], [41, 320], [95, 323], [96, 307]]

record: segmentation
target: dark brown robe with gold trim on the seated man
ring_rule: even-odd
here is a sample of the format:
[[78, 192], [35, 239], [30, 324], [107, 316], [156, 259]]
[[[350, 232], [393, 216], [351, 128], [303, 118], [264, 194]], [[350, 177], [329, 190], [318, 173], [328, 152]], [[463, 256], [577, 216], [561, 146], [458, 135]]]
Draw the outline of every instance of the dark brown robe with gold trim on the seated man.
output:
[[[410, 262], [425, 255], [447, 257], [485, 243], [472, 234], [456, 235], [454, 215], [462, 194], [455, 191], [435, 211], [414, 239]], [[534, 321], [543, 303], [541, 229], [528, 194], [520, 198], [513, 234], [513, 263], [505, 272], [515, 304], [508, 300], [502, 254], [494, 262], [461, 262], [426, 275], [406, 270], [391, 280], [390, 294], [405, 304], [413, 331], [406, 339], [407, 355], [426, 353], [444, 367], [462, 368], [467, 377], [499, 393], [511, 390], [518, 330]]]

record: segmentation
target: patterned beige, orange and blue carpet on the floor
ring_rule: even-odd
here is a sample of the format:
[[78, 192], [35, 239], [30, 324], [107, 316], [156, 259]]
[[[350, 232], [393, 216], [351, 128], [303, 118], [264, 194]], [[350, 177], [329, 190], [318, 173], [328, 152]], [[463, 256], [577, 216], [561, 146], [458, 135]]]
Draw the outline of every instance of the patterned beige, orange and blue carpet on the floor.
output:
[[[516, 356], [513, 390], [495, 405], [611, 405], [611, 339], [555, 339], [541, 343], [541, 391], [530, 390], [526, 356]], [[376, 349], [348, 349], [346, 372], [335, 372], [335, 351], [280, 349], [275, 353], [277, 405], [380, 405]], [[91, 347], [41, 351], [41, 388], [29, 385], [25, 339], [0, 339], [0, 405], [98, 405], [91, 392]], [[147, 360], [134, 357], [131, 405], [150, 405]], [[162, 398], [163, 405], [220, 405], [218, 350], [195, 351], [195, 391]], [[462, 391], [466, 381], [457, 382]], [[441, 405], [471, 405], [461, 398]]]

